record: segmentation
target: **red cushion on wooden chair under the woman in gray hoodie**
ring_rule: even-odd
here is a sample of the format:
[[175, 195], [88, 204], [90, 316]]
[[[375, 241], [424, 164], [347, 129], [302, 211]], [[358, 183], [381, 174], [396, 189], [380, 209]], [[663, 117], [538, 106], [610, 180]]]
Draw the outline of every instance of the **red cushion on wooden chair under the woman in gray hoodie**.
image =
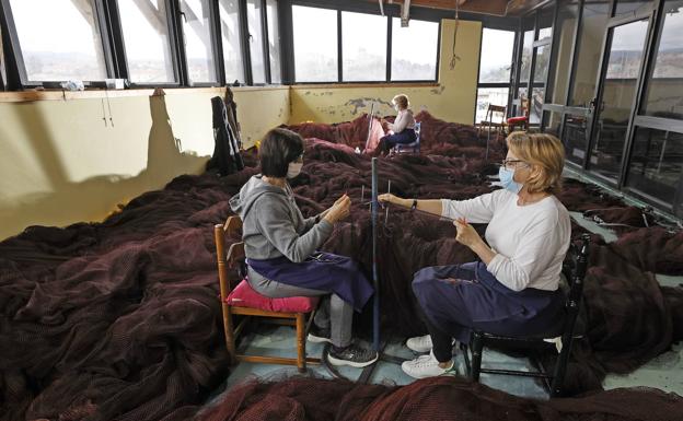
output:
[[317, 306], [317, 296], [289, 296], [287, 299], [268, 299], [261, 295], [246, 280], [232, 290], [225, 303], [239, 307], [264, 309], [280, 313], [309, 313]]

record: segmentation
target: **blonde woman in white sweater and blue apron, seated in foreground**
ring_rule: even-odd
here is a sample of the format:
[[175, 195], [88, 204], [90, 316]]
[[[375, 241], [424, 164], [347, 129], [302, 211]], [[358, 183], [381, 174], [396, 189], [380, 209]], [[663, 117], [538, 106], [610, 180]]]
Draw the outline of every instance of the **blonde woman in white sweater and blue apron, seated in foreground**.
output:
[[[548, 135], [513, 132], [507, 143], [500, 190], [470, 200], [379, 198], [454, 220], [455, 238], [481, 259], [415, 273], [413, 291], [429, 335], [410, 338], [407, 346], [432, 352], [403, 363], [413, 377], [452, 371], [452, 340], [466, 343], [472, 329], [543, 335], [563, 321], [559, 280], [571, 224], [554, 194], [560, 188], [565, 151]], [[470, 222], [488, 223], [486, 242]]]

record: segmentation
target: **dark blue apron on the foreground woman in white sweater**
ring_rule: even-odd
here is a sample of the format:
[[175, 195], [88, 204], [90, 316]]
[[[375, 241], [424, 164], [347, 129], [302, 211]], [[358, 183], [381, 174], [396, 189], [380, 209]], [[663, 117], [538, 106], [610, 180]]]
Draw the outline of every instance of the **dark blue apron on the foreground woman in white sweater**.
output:
[[463, 343], [470, 341], [472, 329], [556, 336], [564, 321], [560, 290], [512, 291], [479, 261], [421, 269], [415, 273], [413, 291], [429, 320]]

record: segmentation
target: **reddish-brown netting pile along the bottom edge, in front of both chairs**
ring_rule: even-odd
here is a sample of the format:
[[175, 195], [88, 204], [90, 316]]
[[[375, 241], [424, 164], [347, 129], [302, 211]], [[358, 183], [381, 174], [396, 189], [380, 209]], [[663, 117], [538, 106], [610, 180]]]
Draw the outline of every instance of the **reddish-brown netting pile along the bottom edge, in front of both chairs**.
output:
[[459, 377], [407, 386], [291, 377], [233, 387], [200, 421], [678, 421], [683, 400], [658, 389], [597, 391], [574, 398], [516, 397]]

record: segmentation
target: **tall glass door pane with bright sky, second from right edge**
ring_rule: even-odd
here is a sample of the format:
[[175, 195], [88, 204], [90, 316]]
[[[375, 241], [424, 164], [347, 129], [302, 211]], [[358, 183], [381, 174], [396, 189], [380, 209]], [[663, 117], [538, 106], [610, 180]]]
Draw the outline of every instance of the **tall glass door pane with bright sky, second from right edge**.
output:
[[614, 184], [621, 178], [649, 24], [650, 19], [641, 19], [607, 30], [597, 100], [591, 102], [593, 137], [587, 168]]

